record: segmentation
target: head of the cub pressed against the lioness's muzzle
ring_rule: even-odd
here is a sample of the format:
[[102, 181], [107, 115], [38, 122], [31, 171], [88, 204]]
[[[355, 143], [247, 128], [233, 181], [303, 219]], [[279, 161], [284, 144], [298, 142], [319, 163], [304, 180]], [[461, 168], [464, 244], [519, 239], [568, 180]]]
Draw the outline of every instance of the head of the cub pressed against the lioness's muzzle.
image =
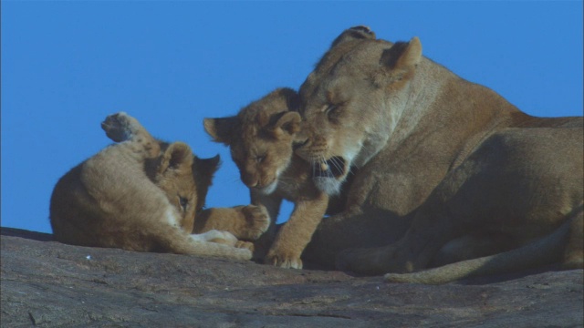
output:
[[270, 194], [293, 156], [300, 126], [296, 91], [278, 88], [233, 117], [205, 118], [203, 125], [214, 141], [231, 149], [241, 180], [250, 189]]

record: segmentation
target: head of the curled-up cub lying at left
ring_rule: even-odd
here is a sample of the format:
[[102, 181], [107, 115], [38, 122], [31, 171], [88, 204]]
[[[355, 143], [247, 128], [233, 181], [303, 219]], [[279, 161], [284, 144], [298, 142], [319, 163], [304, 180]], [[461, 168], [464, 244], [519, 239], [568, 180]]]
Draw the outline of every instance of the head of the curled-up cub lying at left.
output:
[[161, 155], [147, 159], [145, 168], [149, 178], [164, 193], [181, 214], [184, 231], [193, 231], [194, 217], [203, 210], [219, 156], [199, 159], [183, 142], [161, 143]]

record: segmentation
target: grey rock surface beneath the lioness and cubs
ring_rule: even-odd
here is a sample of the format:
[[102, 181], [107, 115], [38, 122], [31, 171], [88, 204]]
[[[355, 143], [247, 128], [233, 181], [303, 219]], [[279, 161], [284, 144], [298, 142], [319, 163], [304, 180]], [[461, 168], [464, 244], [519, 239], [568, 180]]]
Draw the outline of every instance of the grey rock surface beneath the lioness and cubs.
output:
[[582, 327], [583, 272], [440, 286], [2, 229], [2, 327]]

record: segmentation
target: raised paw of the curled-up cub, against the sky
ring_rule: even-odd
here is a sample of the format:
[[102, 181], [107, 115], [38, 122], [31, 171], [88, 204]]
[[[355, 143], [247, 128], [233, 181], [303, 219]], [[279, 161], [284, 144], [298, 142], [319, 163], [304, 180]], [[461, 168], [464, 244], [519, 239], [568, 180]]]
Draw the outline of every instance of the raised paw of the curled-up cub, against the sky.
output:
[[160, 145], [151, 134], [142, 127], [136, 118], [120, 112], [108, 116], [101, 122], [101, 128], [108, 138], [116, 142], [130, 141], [134, 152], [144, 152], [147, 158], [158, 156]]

